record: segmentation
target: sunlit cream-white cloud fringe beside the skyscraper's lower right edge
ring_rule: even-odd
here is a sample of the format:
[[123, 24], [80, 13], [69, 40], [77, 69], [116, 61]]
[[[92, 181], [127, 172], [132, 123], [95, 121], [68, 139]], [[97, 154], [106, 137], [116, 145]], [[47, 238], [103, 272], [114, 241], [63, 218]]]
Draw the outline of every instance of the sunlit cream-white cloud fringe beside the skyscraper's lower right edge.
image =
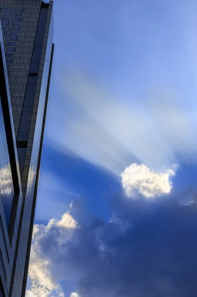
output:
[[47, 238], [53, 232], [58, 232], [56, 239], [57, 246], [60, 247], [72, 239], [73, 230], [76, 228], [77, 223], [68, 212], [64, 213], [59, 221], [51, 219], [47, 226], [34, 226], [29, 265], [31, 288], [27, 291], [28, 297], [48, 297], [51, 296], [51, 293], [58, 297], [64, 297], [61, 285], [51, 271], [51, 259], [42, 252], [40, 241], [43, 237]]

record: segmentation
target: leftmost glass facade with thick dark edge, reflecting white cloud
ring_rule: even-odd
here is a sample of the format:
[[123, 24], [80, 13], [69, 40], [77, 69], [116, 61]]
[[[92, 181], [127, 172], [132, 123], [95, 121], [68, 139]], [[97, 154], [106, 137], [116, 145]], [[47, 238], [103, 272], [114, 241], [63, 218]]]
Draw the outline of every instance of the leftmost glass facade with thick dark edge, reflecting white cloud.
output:
[[[17, 237], [17, 206], [21, 207], [14, 124], [0, 26], [0, 296], [8, 296]], [[19, 216], [19, 213], [18, 213]], [[15, 227], [15, 228], [14, 228]]]

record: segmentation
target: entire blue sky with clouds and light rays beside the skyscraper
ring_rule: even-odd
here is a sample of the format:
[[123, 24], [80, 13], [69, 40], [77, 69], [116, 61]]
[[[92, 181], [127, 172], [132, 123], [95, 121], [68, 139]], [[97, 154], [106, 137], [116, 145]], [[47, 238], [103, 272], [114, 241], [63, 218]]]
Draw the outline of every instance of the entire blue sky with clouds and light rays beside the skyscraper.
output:
[[54, 0], [28, 297], [194, 297], [197, 3]]

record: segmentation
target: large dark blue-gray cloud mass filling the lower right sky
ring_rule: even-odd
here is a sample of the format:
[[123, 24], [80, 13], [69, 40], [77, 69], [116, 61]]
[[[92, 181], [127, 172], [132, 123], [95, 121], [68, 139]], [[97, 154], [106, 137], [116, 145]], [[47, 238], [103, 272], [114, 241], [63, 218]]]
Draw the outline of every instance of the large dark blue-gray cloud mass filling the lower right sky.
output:
[[55, 282], [75, 274], [80, 297], [196, 297], [197, 204], [113, 201], [111, 222], [73, 229], [56, 222], [39, 237]]

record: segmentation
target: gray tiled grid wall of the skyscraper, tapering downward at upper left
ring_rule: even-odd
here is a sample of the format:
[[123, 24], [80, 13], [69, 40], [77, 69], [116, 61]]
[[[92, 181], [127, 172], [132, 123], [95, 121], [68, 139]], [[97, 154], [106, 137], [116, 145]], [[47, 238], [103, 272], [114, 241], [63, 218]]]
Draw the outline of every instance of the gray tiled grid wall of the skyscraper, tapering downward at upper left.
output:
[[3, 27], [3, 42], [7, 60], [14, 130], [17, 138], [41, 0], [0, 0], [0, 6], [2, 7], [0, 19], [9, 17], [8, 24]]

